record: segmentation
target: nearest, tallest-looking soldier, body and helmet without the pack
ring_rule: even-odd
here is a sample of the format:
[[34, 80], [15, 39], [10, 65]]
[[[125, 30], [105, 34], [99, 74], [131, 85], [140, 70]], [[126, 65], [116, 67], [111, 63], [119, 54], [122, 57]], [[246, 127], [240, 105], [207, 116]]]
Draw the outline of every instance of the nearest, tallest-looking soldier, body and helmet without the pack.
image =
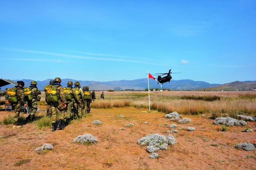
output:
[[[60, 130], [64, 128], [63, 126], [63, 120], [65, 118], [65, 108], [66, 108], [66, 95], [63, 92], [63, 88], [60, 85], [61, 79], [56, 77], [54, 79], [54, 85], [52, 88], [56, 87], [57, 88], [57, 96], [58, 96], [58, 104], [50, 104], [51, 110], [52, 110], [52, 131], [56, 131], [57, 128]], [[60, 111], [60, 120], [58, 123], [58, 127], [56, 127], [56, 116], [57, 116], [57, 110]]]

